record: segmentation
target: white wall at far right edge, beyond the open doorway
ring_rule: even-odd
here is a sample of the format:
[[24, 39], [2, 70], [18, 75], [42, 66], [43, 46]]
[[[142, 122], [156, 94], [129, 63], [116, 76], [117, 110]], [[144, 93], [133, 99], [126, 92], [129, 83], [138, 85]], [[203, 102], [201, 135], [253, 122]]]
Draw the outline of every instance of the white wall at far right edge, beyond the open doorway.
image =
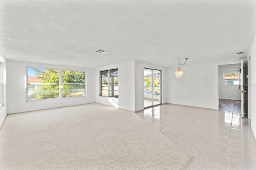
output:
[[248, 93], [250, 93], [248, 96], [248, 105], [250, 109], [250, 117], [251, 117], [251, 128], [252, 132], [254, 134], [254, 137], [256, 137], [256, 37], [254, 38], [254, 42], [252, 43], [252, 47], [248, 53], [248, 57], [250, 57], [250, 69], [248, 69], [249, 74], [249, 87], [248, 87]]

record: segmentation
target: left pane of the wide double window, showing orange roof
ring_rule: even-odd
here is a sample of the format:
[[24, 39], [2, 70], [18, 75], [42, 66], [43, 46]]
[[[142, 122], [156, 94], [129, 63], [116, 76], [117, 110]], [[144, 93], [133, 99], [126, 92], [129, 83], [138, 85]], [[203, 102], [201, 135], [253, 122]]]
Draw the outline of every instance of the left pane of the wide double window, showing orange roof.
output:
[[28, 67], [27, 100], [60, 97], [58, 69]]

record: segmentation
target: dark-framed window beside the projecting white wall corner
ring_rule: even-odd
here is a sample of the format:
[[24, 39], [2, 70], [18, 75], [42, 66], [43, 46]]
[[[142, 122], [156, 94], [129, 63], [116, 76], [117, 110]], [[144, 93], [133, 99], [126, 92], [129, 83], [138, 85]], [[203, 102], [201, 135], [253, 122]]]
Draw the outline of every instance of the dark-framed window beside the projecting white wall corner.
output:
[[118, 98], [118, 69], [100, 71], [100, 96]]

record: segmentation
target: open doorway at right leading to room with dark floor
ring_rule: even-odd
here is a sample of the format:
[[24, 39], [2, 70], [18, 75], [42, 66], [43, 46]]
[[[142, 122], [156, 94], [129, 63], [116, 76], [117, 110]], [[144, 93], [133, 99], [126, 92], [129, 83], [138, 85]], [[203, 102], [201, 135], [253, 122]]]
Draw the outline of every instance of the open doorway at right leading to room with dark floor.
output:
[[242, 117], [248, 113], [246, 75], [247, 62], [223, 63], [218, 65], [218, 110], [240, 113]]

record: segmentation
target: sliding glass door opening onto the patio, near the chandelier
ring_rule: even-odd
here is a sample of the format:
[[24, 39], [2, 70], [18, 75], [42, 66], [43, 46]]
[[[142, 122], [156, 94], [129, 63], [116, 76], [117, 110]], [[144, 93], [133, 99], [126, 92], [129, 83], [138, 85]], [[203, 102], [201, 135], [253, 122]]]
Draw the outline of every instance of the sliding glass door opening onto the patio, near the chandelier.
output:
[[144, 108], [161, 104], [161, 70], [144, 68]]

